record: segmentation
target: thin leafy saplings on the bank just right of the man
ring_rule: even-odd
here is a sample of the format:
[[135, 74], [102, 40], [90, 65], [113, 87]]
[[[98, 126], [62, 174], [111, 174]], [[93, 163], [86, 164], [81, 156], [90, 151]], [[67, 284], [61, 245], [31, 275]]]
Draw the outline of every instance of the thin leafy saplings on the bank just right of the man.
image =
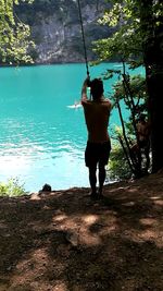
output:
[[[146, 169], [146, 157], [141, 149], [134, 151], [133, 146], [139, 144], [137, 120], [145, 113], [148, 116], [146, 80], [141, 75], [130, 76], [123, 65], [121, 70], [108, 70], [104, 78], [118, 74], [118, 81], [113, 85], [113, 94], [110, 97], [113, 107], [120, 113], [121, 126], [115, 126], [112, 140], [116, 141], [112, 146], [111, 175], [117, 180], [128, 177], [141, 177]], [[122, 102], [129, 113], [128, 120], [123, 117]]]

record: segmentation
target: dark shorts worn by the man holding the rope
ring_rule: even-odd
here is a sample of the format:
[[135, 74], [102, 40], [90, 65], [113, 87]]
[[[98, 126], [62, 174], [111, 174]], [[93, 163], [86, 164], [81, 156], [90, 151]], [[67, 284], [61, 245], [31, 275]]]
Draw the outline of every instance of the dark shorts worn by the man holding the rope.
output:
[[108, 165], [111, 151], [111, 143], [91, 143], [87, 142], [85, 150], [86, 167], [96, 167], [99, 165]]

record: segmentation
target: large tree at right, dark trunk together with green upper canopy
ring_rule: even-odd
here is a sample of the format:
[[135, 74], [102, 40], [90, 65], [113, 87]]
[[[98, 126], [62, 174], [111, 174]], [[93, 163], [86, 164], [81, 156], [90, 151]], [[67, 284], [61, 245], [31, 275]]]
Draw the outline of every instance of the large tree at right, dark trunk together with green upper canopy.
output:
[[112, 9], [99, 21], [116, 27], [112, 37], [99, 39], [98, 61], [123, 60], [131, 68], [145, 65], [148, 112], [151, 120], [152, 171], [163, 168], [163, 2], [160, 0], [110, 1]]

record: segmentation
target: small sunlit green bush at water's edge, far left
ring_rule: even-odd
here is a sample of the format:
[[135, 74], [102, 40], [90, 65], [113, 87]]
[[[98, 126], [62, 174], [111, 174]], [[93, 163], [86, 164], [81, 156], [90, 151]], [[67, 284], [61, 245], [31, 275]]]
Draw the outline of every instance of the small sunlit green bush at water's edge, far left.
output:
[[17, 178], [12, 178], [7, 183], [0, 182], [0, 196], [16, 197], [26, 194], [24, 185]]

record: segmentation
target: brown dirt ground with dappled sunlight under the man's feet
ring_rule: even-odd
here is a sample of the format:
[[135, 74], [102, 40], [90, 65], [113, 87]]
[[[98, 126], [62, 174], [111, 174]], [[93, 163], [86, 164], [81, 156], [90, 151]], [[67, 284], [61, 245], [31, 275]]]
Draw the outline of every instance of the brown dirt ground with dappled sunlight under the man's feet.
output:
[[0, 291], [163, 291], [163, 172], [0, 198]]

